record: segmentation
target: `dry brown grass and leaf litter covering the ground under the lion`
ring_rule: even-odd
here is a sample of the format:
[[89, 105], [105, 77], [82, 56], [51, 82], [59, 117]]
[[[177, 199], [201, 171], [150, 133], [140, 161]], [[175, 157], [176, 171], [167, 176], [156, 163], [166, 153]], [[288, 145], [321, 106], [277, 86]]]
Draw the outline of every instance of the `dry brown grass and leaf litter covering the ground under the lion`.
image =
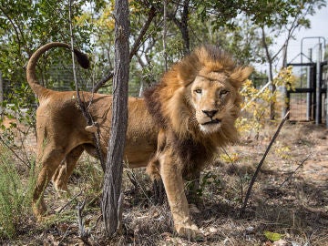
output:
[[[203, 241], [176, 235], [167, 202], [153, 205], [152, 187], [143, 169], [125, 170], [124, 226], [121, 235], [108, 240], [99, 209], [102, 171], [97, 161], [85, 156], [70, 180], [70, 197], [59, 198], [51, 186], [46, 190], [49, 209], [61, 212], [41, 224], [34, 218], [22, 221], [19, 235], [12, 241], [0, 239], [0, 244], [87, 245], [78, 238], [77, 225], [77, 203], [86, 200], [83, 216], [91, 234], [89, 245], [273, 245], [264, 231], [280, 233], [286, 245], [328, 245], [325, 128], [311, 124], [282, 128], [252, 190], [245, 217], [239, 218], [241, 196], [273, 132], [274, 128], [265, 128], [257, 140], [241, 138], [241, 144], [226, 149], [231, 155], [237, 154], [233, 165], [218, 159], [203, 171], [202, 176], [210, 173], [210, 178], [206, 176], [206, 185], [202, 186], [198, 209], [191, 210], [193, 220], [205, 234]], [[281, 187], [308, 155], [310, 158]]]

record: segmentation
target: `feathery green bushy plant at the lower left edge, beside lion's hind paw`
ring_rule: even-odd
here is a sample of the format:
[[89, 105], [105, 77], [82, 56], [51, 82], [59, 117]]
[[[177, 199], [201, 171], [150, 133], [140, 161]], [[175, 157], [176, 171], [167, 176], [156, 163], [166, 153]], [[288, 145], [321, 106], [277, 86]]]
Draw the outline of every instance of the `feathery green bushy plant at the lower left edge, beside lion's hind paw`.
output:
[[9, 150], [1, 145], [0, 150], [0, 237], [13, 238], [18, 225], [30, 211], [34, 165], [30, 169], [30, 178], [23, 183]]

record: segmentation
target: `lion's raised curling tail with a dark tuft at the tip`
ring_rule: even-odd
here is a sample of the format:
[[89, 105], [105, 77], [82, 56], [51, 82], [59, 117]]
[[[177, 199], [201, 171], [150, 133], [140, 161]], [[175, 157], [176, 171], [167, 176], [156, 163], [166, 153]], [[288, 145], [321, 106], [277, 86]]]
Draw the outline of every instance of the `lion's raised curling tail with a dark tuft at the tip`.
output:
[[[47, 50], [53, 48], [53, 47], [66, 47], [67, 49], [70, 49], [71, 46], [64, 44], [64, 43], [59, 43], [59, 42], [52, 42], [48, 43], [45, 46], [39, 47], [35, 53], [30, 57], [27, 67], [26, 67], [26, 77], [27, 77], [27, 82], [32, 88], [32, 90], [36, 93], [36, 97], [42, 97], [47, 94], [49, 91], [46, 87], [41, 86], [36, 77], [36, 62], [39, 59], [39, 57], [44, 54]], [[77, 49], [74, 49], [74, 53], [77, 56], [77, 62], [78, 64], [83, 67], [83, 68], [88, 68], [90, 63], [87, 58], [87, 55], [78, 51]]]

